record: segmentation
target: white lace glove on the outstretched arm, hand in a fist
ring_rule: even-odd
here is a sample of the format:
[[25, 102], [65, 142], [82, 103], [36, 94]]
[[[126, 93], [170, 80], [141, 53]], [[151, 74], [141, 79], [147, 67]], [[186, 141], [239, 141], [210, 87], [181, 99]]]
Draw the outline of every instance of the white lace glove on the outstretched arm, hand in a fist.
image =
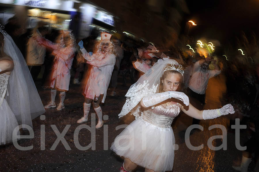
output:
[[220, 109], [203, 110], [202, 117], [203, 119], [214, 119], [222, 115], [228, 115], [229, 113], [235, 113], [235, 110], [231, 104], [227, 104]]

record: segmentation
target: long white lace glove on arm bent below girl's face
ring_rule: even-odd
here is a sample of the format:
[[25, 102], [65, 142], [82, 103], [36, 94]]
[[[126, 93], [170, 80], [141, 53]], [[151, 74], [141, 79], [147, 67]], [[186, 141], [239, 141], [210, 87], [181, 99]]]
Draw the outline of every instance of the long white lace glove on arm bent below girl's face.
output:
[[142, 102], [146, 107], [151, 107], [169, 98], [176, 98], [182, 101], [186, 106], [189, 105], [188, 96], [186, 96], [183, 92], [178, 92], [178, 91], [160, 92], [149, 96], [145, 96], [143, 97]]

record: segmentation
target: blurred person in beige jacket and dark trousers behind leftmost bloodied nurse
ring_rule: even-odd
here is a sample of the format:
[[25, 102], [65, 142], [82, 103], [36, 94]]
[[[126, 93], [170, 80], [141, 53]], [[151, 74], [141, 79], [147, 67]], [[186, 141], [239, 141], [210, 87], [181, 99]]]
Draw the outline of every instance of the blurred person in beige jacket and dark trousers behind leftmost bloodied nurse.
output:
[[38, 44], [36, 38], [37, 36], [45, 37], [47, 34], [47, 27], [38, 28], [34, 35], [28, 41], [28, 50], [27, 50], [27, 65], [30, 69], [31, 76], [35, 82], [38, 78], [38, 75], [41, 71], [41, 66], [44, 64], [46, 48], [44, 45]]

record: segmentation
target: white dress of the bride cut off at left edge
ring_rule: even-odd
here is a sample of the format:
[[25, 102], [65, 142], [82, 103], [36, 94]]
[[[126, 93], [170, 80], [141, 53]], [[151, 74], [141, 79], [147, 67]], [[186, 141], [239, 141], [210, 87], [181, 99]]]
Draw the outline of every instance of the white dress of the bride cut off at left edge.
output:
[[18, 126], [14, 113], [5, 100], [8, 79], [9, 75], [0, 74], [0, 145], [12, 142], [14, 128]]

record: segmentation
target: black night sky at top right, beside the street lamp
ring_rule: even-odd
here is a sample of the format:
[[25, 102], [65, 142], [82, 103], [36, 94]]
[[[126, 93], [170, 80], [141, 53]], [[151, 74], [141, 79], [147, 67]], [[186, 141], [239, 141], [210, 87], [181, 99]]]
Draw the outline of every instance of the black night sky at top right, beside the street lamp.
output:
[[193, 20], [189, 36], [217, 39], [221, 44], [233, 43], [241, 31], [249, 37], [252, 32], [259, 37], [259, 0], [186, 0]]

